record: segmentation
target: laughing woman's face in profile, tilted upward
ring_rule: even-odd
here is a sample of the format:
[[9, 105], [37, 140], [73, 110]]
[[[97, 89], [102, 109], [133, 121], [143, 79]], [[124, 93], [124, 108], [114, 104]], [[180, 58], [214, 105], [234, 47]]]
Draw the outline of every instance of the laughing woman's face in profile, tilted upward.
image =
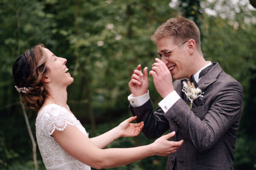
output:
[[71, 77], [70, 73], [67, 72], [68, 68], [65, 65], [67, 60], [55, 56], [47, 48], [43, 48], [43, 50], [47, 56], [46, 67], [49, 68], [45, 82], [49, 82], [57, 86], [70, 85], [74, 79]]

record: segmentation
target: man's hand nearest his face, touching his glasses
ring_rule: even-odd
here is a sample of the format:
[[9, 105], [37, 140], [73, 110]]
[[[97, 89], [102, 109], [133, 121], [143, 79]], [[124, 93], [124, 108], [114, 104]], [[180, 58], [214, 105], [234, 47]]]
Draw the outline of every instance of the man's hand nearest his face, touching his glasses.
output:
[[174, 91], [172, 74], [161, 59], [156, 58], [155, 61], [149, 75], [153, 77], [158, 93], [165, 98]]

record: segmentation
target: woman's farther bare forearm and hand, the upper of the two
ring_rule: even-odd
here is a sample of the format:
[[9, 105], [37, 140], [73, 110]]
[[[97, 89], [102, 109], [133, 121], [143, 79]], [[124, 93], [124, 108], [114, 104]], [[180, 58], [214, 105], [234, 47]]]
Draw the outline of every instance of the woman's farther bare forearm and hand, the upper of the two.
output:
[[102, 149], [119, 137], [137, 136], [144, 127], [144, 123], [130, 123], [136, 118], [137, 116], [130, 117], [112, 130], [109, 130], [100, 136], [91, 138], [92, 142]]

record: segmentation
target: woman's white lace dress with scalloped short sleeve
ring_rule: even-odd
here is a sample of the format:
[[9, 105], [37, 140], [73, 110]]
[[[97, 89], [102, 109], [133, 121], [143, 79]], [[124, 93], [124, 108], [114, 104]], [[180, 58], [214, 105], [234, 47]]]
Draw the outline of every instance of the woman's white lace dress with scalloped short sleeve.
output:
[[63, 131], [67, 125], [76, 126], [88, 136], [79, 120], [59, 105], [46, 105], [37, 115], [35, 122], [37, 144], [46, 170], [90, 170], [88, 165], [66, 153], [51, 136], [55, 130]]

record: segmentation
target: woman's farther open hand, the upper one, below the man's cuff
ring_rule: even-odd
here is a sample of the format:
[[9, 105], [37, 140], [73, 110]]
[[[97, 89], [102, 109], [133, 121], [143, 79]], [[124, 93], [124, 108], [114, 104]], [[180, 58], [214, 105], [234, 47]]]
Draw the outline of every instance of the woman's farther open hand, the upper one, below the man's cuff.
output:
[[141, 130], [144, 127], [144, 122], [130, 123], [136, 118], [137, 116], [130, 117], [129, 119], [126, 119], [124, 122], [118, 125], [118, 130], [120, 130], [120, 136], [132, 137], [137, 136], [138, 134], [141, 133]]

